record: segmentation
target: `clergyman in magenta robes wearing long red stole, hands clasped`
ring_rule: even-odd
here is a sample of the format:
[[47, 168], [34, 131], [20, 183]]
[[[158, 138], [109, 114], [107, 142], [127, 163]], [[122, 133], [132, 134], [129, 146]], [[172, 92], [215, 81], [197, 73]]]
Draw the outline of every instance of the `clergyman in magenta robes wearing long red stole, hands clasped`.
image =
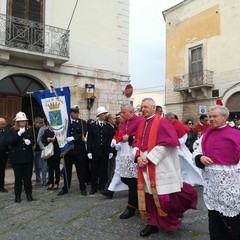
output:
[[142, 101], [145, 121], [133, 143], [138, 163], [138, 208], [141, 217], [148, 219], [141, 237], [158, 232], [158, 226], [165, 231], [178, 229], [183, 213], [197, 205], [196, 190], [182, 181], [176, 130], [155, 114], [155, 106], [151, 98]]

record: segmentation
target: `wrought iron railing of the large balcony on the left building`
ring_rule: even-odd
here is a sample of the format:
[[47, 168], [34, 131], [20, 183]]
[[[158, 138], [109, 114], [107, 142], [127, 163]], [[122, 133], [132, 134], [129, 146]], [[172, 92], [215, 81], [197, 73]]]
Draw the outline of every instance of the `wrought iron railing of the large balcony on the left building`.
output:
[[69, 58], [69, 30], [0, 14], [0, 46]]

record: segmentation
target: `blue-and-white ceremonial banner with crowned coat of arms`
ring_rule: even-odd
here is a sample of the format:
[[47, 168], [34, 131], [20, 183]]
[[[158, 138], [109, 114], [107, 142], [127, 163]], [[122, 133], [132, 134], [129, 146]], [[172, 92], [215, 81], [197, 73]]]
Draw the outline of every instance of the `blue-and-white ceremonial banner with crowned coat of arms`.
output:
[[69, 87], [52, 89], [53, 91], [36, 91], [34, 96], [43, 108], [57, 138], [61, 156], [64, 156], [73, 147], [73, 143], [66, 141], [69, 136], [70, 89]]

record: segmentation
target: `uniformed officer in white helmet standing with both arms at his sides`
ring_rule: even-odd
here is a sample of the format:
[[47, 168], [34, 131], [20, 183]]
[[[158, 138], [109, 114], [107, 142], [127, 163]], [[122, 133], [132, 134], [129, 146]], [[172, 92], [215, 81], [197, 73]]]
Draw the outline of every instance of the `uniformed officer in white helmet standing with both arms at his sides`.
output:
[[99, 107], [98, 120], [89, 126], [87, 151], [88, 158], [91, 159], [91, 195], [98, 188], [100, 192], [104, 190], [108, 180], [108, 159], [113, 156], [110, 145], [115, 130], [105, 121], [107, 113], [104, 107]]

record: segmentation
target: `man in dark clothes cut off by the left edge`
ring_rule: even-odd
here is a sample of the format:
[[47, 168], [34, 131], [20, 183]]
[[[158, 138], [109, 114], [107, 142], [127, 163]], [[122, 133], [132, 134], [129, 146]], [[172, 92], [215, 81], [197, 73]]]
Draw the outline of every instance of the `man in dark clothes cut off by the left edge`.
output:
[[7, 163], [6, 120], [0, 118], [0, 192], [8, 192], [4, 187], [5, 169]]

